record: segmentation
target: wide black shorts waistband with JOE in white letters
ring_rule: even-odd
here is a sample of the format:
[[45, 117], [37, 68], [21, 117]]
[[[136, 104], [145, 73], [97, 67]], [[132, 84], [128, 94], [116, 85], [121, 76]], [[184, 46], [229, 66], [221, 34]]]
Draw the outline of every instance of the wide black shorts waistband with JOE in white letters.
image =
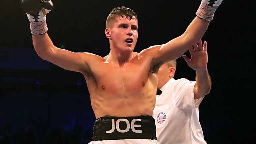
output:
[[118, 139], [156, 138], [155, 120], [152, 116], [103, 116], [94, 122], [93, 141]]

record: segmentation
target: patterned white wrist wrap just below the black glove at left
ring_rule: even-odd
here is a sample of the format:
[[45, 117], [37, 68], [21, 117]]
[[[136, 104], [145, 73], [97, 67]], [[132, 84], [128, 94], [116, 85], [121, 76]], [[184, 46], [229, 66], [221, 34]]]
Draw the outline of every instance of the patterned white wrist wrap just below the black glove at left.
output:
[[42, 35], [48, 31], [48, 27], [46, 25], [46, 18], [40, 22], [30, 21], [30, 31], [32, 35]]

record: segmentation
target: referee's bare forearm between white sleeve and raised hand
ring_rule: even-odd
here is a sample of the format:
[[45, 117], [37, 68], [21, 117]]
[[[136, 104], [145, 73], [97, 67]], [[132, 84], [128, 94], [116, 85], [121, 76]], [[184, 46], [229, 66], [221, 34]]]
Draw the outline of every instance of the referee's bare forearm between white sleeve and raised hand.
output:
[[198, 99], [210, 93], [211, 77], [207, 69], [196, 70], [196, 84], [194, 86], [194, 98]]

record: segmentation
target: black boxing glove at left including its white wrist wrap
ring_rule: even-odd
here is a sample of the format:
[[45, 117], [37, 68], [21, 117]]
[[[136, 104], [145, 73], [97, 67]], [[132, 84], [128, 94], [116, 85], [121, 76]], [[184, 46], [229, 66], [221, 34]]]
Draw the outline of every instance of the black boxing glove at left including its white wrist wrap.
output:
[[33, 35], [42, 35], [48, 31], [46, 14], [53, 10], [51, 0], [21, 0], [21, 7], [27, 13]]

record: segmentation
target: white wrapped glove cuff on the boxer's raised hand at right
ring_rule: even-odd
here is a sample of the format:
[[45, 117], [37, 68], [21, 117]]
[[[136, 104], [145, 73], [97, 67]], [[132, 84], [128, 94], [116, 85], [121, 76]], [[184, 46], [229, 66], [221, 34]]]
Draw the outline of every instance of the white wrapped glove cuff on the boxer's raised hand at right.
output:
[[[214, 1], [214, 2], [211, 2]], [[213, 15], [222, 0], [202, 0], [200, 7], [198, 8], [196, 15], [205, 19], [206, 21], [213, 20]]]

